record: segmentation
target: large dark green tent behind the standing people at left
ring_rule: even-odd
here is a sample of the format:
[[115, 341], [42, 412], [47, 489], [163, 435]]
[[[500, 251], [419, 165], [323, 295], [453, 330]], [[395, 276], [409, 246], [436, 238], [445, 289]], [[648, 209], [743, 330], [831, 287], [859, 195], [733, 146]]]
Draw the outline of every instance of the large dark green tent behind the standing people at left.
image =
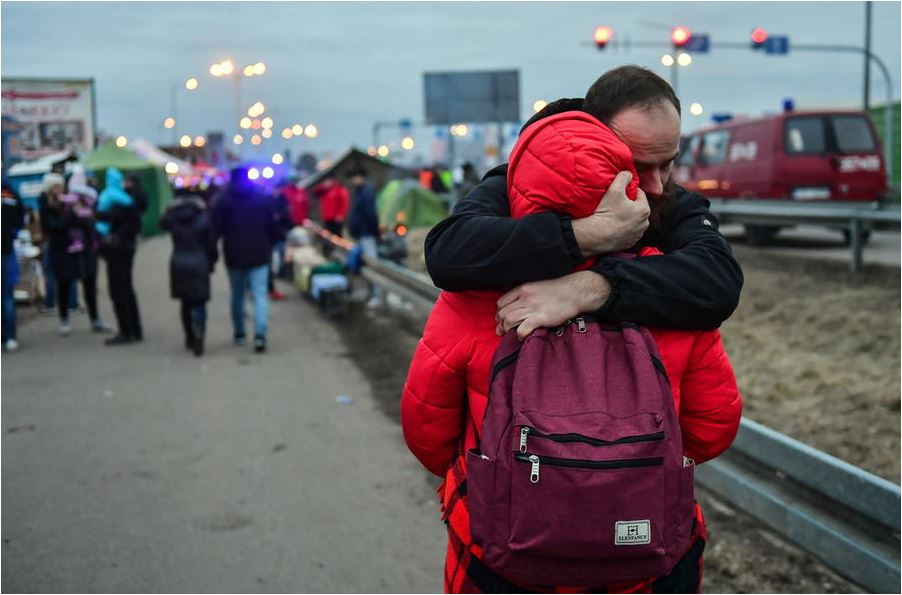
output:
[[135, 175], [147, 193], [147, 210], [141, 218], [141, 234], [151, 236], [160, 233], [160, 215], [172, 201], [172, 187], [162, 168], [139, 156], [134, 151], [120, 149], [108, 142], [81, 158], [86, 170], [94, 172], [97, 182], [103, 188], [106, 184], [106, 170], [115, 167], [125, 175]]

